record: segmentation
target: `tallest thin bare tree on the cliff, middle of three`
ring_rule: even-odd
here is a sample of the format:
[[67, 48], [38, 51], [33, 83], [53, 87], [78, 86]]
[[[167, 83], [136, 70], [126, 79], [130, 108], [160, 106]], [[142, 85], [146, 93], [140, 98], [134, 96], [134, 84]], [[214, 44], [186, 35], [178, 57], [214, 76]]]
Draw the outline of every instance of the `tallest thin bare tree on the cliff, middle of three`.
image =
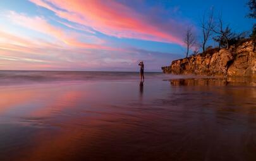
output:
[[214, 10], [210, 9], [209, 14], [202, 17], [201, 20], [201, 28], [203, 33], [203, 39], [202, 39], [202, 49], [203, 54], [205, 54], [205, 45], [207, 41], [209, 40], [210, 36], [212, 35], [212, 28], [214, 28]]

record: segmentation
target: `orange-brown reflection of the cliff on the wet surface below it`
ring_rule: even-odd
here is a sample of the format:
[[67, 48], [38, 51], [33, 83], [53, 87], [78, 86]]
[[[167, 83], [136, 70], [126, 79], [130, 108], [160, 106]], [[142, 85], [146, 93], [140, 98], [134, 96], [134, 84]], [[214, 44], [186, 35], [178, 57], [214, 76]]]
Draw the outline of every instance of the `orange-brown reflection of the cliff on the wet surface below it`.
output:
[[187, 86], [183, 90], [201, 92], [200, 96], [190, 95], [190, 98], [199, 98], [197, 101], [205, 102], [207, 106], [217, 103], [217, 111], [248, 113], [255, 110], [256, 88], [253, 85], [256, 80], [251, 78], [190, 78], [169, 81], [171, 86]]

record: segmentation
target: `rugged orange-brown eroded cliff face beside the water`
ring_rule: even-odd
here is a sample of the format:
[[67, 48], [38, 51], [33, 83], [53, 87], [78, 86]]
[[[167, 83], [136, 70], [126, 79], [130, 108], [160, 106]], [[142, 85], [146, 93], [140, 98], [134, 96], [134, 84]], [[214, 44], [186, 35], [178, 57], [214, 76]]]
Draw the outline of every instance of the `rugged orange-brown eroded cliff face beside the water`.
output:
[[238, 47], [221, 49], [213, 54], [198, 54], [173, 61], [162, 67], [174, 75], [253, 76], [256, 77], [255, 43], [248, 41]]

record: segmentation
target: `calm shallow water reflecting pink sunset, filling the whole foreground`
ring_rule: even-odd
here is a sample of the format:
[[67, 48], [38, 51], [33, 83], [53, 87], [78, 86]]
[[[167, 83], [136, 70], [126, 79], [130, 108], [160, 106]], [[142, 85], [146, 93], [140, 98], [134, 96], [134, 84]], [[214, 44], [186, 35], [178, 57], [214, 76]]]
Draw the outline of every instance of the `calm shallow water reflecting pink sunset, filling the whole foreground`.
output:
[[0, 71], [0, 160], [256, 160], [256, 80]]

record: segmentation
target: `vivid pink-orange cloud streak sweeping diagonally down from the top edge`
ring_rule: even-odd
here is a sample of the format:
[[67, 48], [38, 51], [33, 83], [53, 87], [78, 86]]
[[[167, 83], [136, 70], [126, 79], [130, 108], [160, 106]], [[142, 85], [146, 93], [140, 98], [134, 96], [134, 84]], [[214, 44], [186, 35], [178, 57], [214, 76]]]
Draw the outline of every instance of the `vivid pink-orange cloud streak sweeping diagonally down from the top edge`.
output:
[[[60, 0], [30, 0], [32, 3], [54, 11], [56, 15], [68, 21], [79, 23], [106, 35], [131, 39], [154, 40], [183, 44], [179, 34], [182, 25], [170, 20], [170, 33], [163, 30], [160, 23], [148, 21], [149, 16], [136, 13], [131, 8], [116, 1], [60, 1]], [[176, 29], [173, 29], [175, 28]]]

